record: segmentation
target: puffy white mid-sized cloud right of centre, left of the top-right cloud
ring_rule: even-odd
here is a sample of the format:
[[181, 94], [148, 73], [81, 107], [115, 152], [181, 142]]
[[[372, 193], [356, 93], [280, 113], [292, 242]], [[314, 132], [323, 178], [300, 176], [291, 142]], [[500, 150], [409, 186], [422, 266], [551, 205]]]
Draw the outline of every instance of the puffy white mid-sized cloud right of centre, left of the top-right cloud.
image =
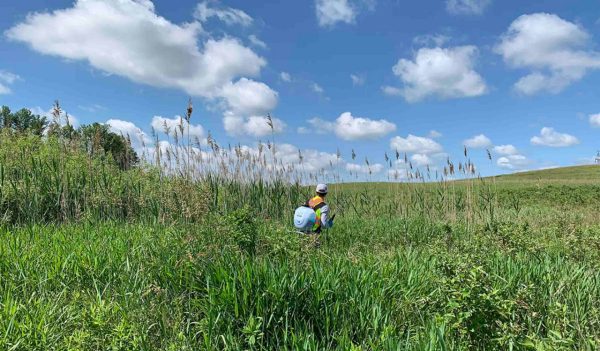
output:
[[403, 89], [384, 87], [388, 95], [401, 95], [408, 102], [429, 96], [442, 99], [480, 96], [487, 92], [483, 78], [474, 70], [475, 46], [421, 48], [413, 60], [400, 59], [393, 72]]

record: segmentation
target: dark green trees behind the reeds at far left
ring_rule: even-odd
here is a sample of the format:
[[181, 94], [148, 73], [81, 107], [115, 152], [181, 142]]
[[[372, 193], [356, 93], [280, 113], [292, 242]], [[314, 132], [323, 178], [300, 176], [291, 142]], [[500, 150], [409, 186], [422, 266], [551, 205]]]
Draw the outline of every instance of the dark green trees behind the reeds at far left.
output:
[[128, 135], [111, 132], [108, 125], [101, 123], [75, 128], [58, 101], [54, 103], [51, 115], [51, 119], [48, 119], [46, 116], [34, 114], [27, 108], [12, 112], [8, 106], [2, 106], [0, 137], [31, 135], [39, 138], [57, 138], [65, 146], [80, 148], [90, 157], [112, 157], [123, 170], [130, 169], [139, 162]]

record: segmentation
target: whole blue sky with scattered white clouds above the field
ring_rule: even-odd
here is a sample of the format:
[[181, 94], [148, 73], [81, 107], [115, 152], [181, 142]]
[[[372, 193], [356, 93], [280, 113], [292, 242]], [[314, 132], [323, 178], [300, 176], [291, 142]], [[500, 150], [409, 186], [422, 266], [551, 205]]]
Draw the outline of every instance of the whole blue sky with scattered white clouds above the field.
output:
[[443, 167], [466, 144], [490, 175], [600, 149], [597, 1], [30, 0], [0, 18], [0, 104], [59, 99], [80, 124], [147, 138], [192, 97], [199, 138], [256, 145], [271, 113], [283, 159], [339, 149], [358, 172], [396, 150]]

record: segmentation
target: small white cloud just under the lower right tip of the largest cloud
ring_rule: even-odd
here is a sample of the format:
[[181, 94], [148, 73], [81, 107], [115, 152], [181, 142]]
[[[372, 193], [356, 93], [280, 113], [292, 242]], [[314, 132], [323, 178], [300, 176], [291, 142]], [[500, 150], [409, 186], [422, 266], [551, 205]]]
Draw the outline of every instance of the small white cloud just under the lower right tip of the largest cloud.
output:
[[223, 118], [225, 131], [229, 135], [250, 135], [253, 137], [264, 137], [271, 133], [279, 134], [283, 132], [286, 124], [278, 119], [272, 118], [273, 130], [269, 126], [266, 116], [242, 117], [231, 112], [226, 112]]

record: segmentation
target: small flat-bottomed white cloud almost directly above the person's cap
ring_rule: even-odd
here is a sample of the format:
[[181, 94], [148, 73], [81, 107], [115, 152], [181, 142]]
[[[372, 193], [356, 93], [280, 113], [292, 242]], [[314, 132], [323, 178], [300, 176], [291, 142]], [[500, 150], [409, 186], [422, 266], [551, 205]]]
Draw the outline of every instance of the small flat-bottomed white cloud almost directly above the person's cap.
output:
[[396, 125], [385, 119], [354, 117], [350, 112], [342, 113], [334, 122], [313, 118], [308, 123], [317, 133], [333, 132], [338, 138], [348, 141], [377, 139], [396, 130]]

